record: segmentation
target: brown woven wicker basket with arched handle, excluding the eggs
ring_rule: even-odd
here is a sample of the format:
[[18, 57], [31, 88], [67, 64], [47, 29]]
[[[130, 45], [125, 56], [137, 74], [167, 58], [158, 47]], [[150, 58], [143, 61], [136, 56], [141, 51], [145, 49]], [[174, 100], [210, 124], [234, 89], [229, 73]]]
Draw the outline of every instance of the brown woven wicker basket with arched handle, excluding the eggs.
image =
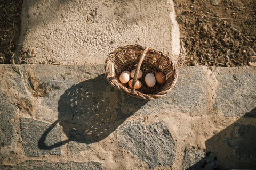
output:
[[[130, 88], [128, 84], [122, 84], [119, 81], [119, 76], [123, 71], [131, 71], [135, 68], [132, 88]], [[142, 87], [135, 90], [134, 85], [139, 69], [143, 72], [142, 78], [139, 79]], [[131, 96], [148, 100], [165, 96], [171, 91], [178, 77], [177, 70], [167, 55], [137, 44], [119, 47], [111, 52], [105, 63], [105, 71], [106, 78], [112, 86], [124, 90]], [[145, 75], [155, 72], [163, 72], [166, 75], [166, 81], [163, 84], [156, 82], [154, 87], [148, 87], [145, 83]]]

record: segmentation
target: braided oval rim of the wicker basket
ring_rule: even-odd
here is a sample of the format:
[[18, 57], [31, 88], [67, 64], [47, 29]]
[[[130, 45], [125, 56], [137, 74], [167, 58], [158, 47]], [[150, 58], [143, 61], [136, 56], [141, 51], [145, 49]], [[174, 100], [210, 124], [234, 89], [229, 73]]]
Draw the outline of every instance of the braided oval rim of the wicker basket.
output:
[[173, 86], [176, 84], [177, 82], [177, 78], [178, 78], [178, 71], [177, 68], [175, 67], [175, 65], [173, 64], [171, 58], [169, 56], [167, 56], [166, 54], [159, 52], [158, 50], [152, 49], [153, 53], [156, 53], [158, 55], [161, 55], [164, 57], [164, 59], [171, 64], [172, 70], [173, 70], [173, 74], [174, 74], [174, 80], [172, 82], [172, 84], [170, 86], [166, 86], [164, 89], [162, 89], [160, 92], [158, 92], [157, 94], [144, 94], [143, 92], [137, 91], [137, 90], [133, 90], [131, 91], [130, 88], [125, 87], [123, 84], [121, 84], [121, 86], [119, 84], [116, 84], [112, 81], [113, 77], [109, 77], [108, 76], [108, 72], [107, 69], [109, 67], [108, 62], [110, 60], [110, 57], [112, 55], [115, 55], [116, 53], [122, 52], [123, 49], [132, 49], [132, 48], [141, 48], [141, 50], [145, 50], [146, 47], [142, 47], [141, 45], [138, 44], [132, 44], [132, 45], [126, 45], [126, 46], [120, 46], [118, 48], [116, 48], [113, 52], [111, 52], [108, 57], [106, 58], [105, 61], [105, 77], [107, 79], [107, 81], [111, 84], [111, 86], [120, 89], [124, 92], [126, 92], [127, 94], [129, 94], [130, 96], [133, 97], [137, 97], [137, 98], [142, 98], [142, 99], [156, 99], [159, 97], [163, 97], [167, 94], [167, 92], [170, 92], [173, 88]]

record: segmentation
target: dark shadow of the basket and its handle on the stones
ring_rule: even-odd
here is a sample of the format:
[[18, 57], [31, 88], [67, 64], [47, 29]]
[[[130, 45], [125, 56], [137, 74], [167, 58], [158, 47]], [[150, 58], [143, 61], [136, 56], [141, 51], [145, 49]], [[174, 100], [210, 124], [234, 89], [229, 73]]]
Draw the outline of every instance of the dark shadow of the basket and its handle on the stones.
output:
[[[146, 103], [147, 100], [131, 97], [111, 87], [103, 74], [73, 85], [60, 96], [58, 120], [43, 133], [38, 147], [50, 150], [69, 141], [99, 142]], [[68, 139], [47, 146], [47, 134], [57, 123]]]

